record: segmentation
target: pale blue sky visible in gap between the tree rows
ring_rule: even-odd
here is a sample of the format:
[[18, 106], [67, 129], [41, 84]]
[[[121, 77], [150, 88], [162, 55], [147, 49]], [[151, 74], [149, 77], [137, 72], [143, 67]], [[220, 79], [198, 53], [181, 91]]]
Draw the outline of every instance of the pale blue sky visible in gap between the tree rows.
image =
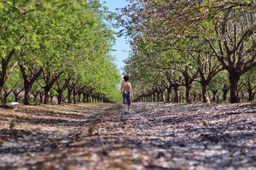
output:
[[[106, 2], [104, 6], [108, 6], [109, 11], [116, 11], [116, 8], [122, 8], [126, 4], [126, 0], [100, 0], [101, 3]], [[118, 29], [115, 29], [115, 31], [118, 31]], [[116, 65], [118, 66], [118, 69], [120, 69], [120, 73], [122, 73], [122, 67], [124, 66], [123, 60], [128, 57], [128, 51], [129, 51], [129, 45], [125, 43], [125, 38], [116, 37], [116, 45], [113, 47], [116, 51], [112, 52], [112, 54], [116, 57]]]

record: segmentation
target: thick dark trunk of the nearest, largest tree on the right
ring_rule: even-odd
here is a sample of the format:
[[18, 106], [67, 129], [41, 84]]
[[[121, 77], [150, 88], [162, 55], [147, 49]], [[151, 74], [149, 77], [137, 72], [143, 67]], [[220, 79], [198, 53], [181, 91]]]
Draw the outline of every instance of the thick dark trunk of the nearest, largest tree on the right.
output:
[[230, 103], [239, 103], [238, 81], [240, 76], [236, 73], [229, 73], [230, 81]]

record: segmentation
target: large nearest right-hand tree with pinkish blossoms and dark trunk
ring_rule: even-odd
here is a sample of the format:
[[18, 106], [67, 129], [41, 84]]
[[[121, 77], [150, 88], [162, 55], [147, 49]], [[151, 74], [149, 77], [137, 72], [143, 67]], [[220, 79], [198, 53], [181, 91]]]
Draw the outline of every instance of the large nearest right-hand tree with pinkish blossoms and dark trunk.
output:
[[[228, 71], [230, 102], [239, 102], [241, 75], [256, 66], [255, 1], [140, 1], [120, 10], [127, 36], [141, 36], [162, 49], [207, 53]], [[204, 39], [209, 48], [179, 48], [184, 37]]]

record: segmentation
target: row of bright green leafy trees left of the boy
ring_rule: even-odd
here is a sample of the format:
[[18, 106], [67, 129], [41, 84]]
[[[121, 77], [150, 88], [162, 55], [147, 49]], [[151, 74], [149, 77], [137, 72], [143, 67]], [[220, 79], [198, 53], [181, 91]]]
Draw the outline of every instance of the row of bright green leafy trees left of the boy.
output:
[[108, 16], [98, 0], [0, 1], [1, 100], [118, 100]]

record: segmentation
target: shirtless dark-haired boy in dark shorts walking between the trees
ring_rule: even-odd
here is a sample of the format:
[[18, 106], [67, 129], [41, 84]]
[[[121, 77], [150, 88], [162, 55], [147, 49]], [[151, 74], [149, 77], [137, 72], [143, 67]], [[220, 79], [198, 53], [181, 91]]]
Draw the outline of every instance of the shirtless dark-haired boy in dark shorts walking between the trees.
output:
[[[132, 85], [128, 82], [129, 76], [124, 76], [124, 81], [121, 83], [121, 94], [123, 96], [123, 103], [125, 104], [125, 113], [129, 113], [132, 98]], [[127, 111], [126, 111], [127, 110]]]

